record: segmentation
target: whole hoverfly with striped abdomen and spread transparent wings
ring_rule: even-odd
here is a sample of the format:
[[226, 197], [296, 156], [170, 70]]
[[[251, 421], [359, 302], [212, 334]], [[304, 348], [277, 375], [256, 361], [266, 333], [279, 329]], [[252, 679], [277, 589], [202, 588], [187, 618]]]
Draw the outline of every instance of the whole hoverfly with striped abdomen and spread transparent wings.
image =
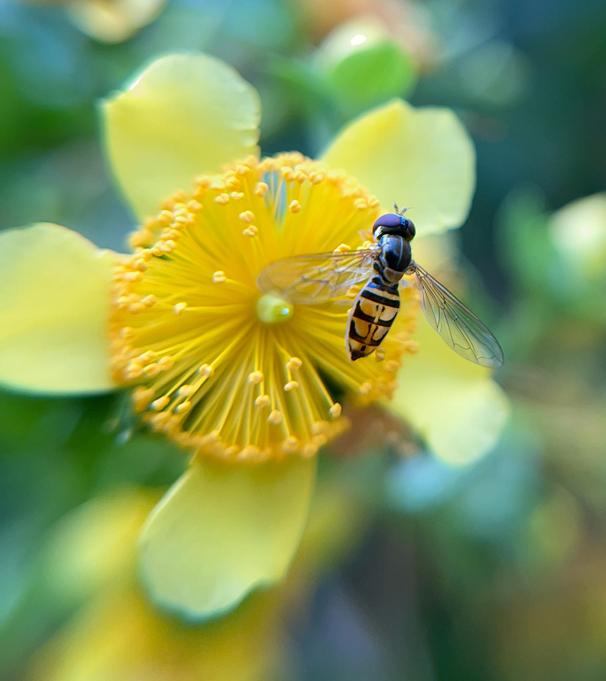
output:
[[376, 238], [368, 249], [296, 255], [268, 265], [257, 287], [298, 304], [326, 302], [345, 296], [352, 285], [366, 280], [357, 294], [345, 332], [345, 349], [353, 362], [381, 345], [400, 308], [398, 287], [412, 274], [421, 309], [431, 326], [466, 360], [495, 368], [503, 351], [492, 333], [460, 300], [412, 259], [415, 225], [406, 208], [387, 213], [372, 227]]

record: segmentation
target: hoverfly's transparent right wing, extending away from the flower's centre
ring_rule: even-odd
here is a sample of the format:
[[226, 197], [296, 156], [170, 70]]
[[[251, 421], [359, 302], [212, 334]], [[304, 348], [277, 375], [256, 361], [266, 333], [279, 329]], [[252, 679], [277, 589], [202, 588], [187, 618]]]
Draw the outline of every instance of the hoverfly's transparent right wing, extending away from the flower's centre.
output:
[[481, 366], [503, 364], [498, 340], [473, 312], [415, 262], [408, 271], [415, 275], [421, 309], [429, 323], [456, 353]]

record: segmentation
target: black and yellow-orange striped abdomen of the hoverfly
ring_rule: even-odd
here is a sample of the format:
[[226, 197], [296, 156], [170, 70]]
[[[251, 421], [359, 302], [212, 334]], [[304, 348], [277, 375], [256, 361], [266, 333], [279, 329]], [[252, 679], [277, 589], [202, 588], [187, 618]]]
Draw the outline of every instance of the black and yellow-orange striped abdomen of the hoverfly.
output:
[[345, 347], [352, 362], [383, 343], [399, 309], [398, 284], [386, 284], [381, 276], [372, 276], [357, 294], [347, 318]]

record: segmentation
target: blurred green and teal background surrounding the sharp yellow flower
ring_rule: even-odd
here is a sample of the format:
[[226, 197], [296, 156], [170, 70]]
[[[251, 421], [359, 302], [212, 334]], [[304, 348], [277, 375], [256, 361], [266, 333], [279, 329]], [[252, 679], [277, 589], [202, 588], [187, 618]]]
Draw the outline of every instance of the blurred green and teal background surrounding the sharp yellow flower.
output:
[[287, 583], [184, 627], [128, 558], [182, 456], [121, 437], [119, 396], [0, 392], [0, 678], [606, 678], [606, 5], [0, 0], [0, 36], [0, 228], [54, 221], [114, 249], [132, 217], [97, 100], [161, 52], [205, 50], [252, 82], [264, 153], [317, 155], [396, 95], [454, 108], [478, 154], [457, 290], [502, 342], [513, 403], [464, 466], [360, 416], [362, 445], [323, 457], [328, 501]]

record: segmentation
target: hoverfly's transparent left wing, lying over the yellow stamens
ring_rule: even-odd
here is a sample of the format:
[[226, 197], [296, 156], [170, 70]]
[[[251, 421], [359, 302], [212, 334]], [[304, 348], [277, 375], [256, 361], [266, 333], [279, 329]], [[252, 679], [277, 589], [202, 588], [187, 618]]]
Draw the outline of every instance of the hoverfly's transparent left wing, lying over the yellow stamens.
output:
[[325, 302], [347, 293], [372, 274], [376, 248], [342, 253], [295, 255], [261, 270], [257, 287], [304, 305]]

